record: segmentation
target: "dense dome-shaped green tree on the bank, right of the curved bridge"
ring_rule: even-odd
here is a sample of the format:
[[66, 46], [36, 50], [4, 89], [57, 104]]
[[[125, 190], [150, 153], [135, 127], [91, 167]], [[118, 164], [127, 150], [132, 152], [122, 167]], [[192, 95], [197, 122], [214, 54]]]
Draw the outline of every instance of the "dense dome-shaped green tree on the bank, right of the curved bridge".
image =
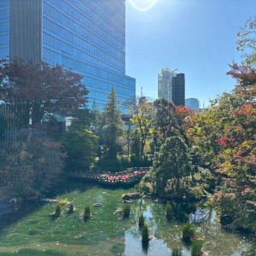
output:
[[177, 190], [183, 176], [189, 175], [191, 163], [189, 148], [180, 137], [169, 137], [160, 147], [160, 152], [154, 154], [152, 175], [156, 192], [164, 194], [168, 179], [175, 178]]

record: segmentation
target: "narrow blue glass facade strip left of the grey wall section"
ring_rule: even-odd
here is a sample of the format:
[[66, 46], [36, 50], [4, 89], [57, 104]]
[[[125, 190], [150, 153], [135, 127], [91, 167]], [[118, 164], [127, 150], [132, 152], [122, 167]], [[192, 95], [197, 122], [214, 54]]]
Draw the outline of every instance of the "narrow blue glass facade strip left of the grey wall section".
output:
[[9, 56], [9, 0], [0, 1], [0, 58]]

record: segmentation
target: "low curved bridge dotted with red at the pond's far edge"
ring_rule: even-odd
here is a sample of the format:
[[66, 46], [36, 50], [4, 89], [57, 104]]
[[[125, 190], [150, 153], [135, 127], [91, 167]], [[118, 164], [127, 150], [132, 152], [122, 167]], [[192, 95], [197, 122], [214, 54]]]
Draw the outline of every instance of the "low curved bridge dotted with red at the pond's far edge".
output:
[[88, 181], [97, 181], [102, 184], [132, 184], [139, 182], [142, 177], [150, 171], [149, 167], [129, 168], [124, 172], [104, 172], [104, 173], [79, 173], [71, 172], [69, 177], [76, 177]]

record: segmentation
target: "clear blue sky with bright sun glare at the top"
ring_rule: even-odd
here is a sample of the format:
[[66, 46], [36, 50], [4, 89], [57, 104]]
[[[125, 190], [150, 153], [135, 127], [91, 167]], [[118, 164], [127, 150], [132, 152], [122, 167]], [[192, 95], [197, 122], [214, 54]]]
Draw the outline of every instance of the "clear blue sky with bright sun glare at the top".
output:
[[137, 79], [137, 95], [157, 98], [161, 68], [185, 73], [185, 98], [201, 108], [236, 80], [241, 63], [236, 34], [256, 16], [256, 0], [126, 0], [126, 74]]

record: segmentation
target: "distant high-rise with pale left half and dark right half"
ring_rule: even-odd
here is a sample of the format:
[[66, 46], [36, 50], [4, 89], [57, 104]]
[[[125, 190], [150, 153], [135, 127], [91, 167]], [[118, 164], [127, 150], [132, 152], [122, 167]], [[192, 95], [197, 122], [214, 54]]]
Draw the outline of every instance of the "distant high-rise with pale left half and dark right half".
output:
[[176, 106], [185, 105], [185, 75], [170, 68], [162, 68], [158, 74], [158, 97], [166, 98]]

